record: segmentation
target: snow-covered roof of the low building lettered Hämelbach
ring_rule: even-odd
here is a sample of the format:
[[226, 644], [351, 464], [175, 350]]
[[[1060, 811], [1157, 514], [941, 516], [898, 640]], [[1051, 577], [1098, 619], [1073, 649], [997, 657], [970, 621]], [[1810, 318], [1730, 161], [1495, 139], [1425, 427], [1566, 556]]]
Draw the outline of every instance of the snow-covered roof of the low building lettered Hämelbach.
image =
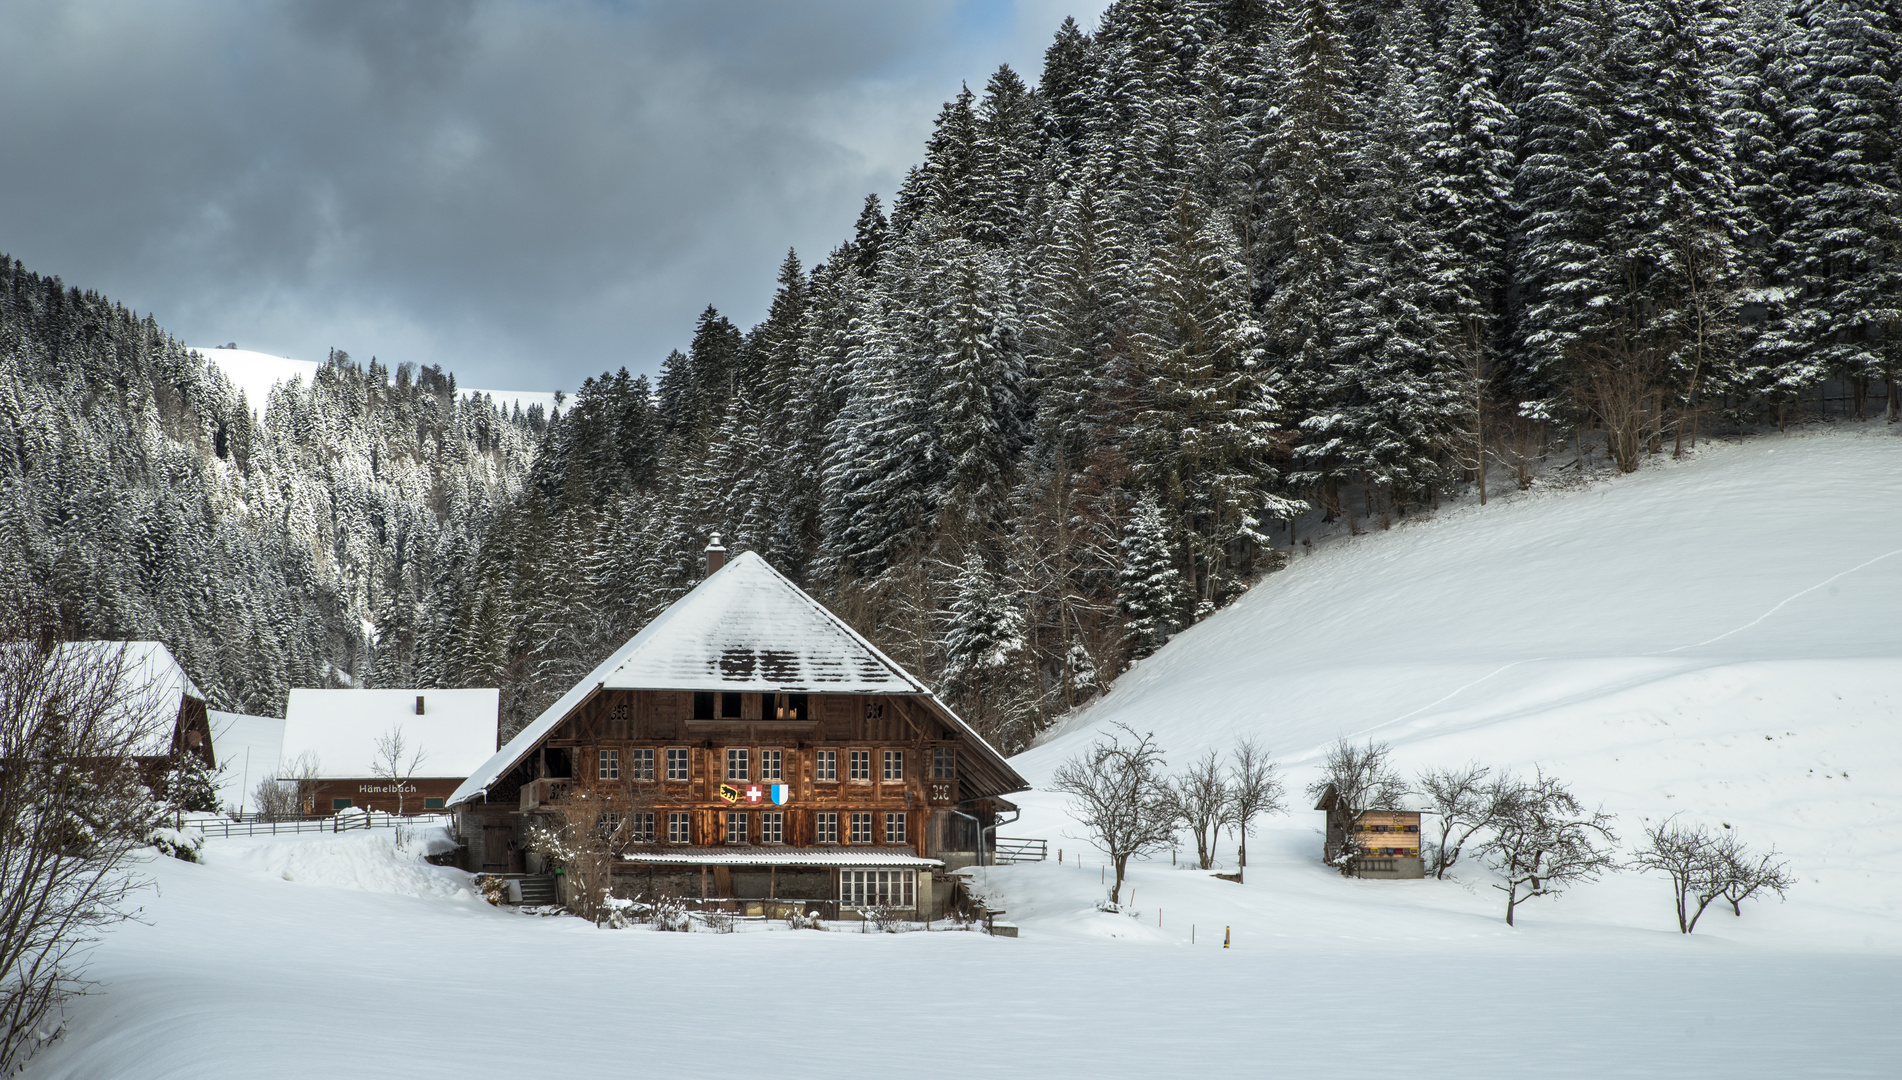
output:
[[280, 761], [310, 753], [320, 778], [375, 776], [377, 740], [401, 728], [422, 749], [415, 776], [468, 776], [495, 753], [498, 705], [495, 688], [291, 690]]

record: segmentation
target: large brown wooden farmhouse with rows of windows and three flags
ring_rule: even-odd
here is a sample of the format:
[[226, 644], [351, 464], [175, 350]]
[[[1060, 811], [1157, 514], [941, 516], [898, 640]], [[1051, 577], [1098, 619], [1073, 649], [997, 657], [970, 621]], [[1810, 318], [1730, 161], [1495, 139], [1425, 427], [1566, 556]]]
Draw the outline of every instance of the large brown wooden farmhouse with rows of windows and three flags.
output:
[[1029, 785], [765, 559], [723, 555], [456, 789], [466, 867], [523, 873], [529, 827], [586, 789], [616, 806], [618, 892], [936, 916]]

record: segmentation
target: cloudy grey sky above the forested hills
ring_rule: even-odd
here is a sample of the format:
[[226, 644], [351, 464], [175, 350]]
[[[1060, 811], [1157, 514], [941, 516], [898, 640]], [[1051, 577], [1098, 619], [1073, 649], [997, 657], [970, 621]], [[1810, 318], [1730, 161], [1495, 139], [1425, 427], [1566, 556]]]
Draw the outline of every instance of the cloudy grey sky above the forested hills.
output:
[[0, 8], [0, 251], [192, 344], [656, 371], [1105, 0]]

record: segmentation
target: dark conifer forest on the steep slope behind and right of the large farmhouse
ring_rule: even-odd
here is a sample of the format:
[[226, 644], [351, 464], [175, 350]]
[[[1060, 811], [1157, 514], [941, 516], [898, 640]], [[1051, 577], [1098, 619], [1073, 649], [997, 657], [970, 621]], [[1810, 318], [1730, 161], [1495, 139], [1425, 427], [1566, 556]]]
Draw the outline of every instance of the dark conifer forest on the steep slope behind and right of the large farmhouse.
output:
[[[1896, 13], [1128, 0], [943, 106], [767, 319], [552, 428], [445, 607], [521, 723], [717, 529], [1006, 749], [1278, 559], [1577, 432], [1896, 413]], [[1518, 466], [1514, 470], [1514, 466]], [[1284, 540], [1286, 544], [1286, 540]]]

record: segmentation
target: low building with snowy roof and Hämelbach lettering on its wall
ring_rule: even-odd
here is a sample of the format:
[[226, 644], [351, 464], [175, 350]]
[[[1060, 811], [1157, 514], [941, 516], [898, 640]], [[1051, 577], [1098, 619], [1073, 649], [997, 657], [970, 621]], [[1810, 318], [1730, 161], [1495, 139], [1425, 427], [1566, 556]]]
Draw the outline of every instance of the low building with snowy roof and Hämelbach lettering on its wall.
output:
[[[449, 795], [495, 755], [500, 692], [291, 690], [280, 780], [301, 780], [304, 814], [441, 812]], [[399, 736], [394, 770], [380, 742]]]

